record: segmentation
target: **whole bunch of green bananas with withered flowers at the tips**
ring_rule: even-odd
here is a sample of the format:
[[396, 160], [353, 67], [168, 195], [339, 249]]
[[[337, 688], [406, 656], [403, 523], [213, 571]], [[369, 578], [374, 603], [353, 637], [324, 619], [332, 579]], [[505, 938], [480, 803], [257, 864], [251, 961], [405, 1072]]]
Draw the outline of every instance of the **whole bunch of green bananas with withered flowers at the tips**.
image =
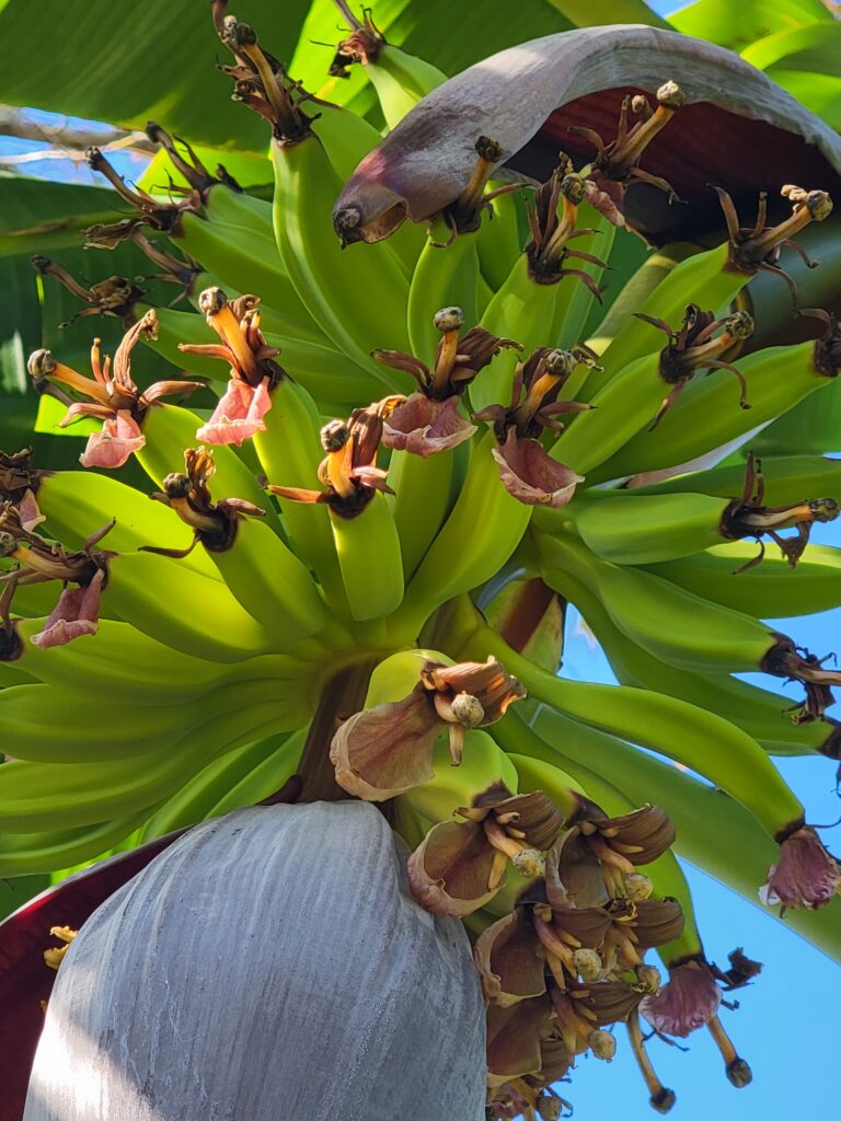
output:
[[[332, 73], [360, 63], [391, 130], [443, 75], [340, 8]], [[92, 376], [34, 355], [71, 433], [101, 421], [85, 471], [0, 454], [0, 877], [272, 796], [383, 802], [416, 898], [475, 941], [492, 1115], [556, 1115], [552, 1081], [584, 1050], [609, 1058], [622, 1021], [665, 1111], [640, 1012], [690, 960], [718, 983], [673, 840], [841, 955], [838, 865], [773, 760], [841, 757], [841, 671], [794, 621], [841, 605], [839, 550], [810, 540], [838, 517], [841, 469], [751, 452], [841, 369], [829, 313], [798, 341], [754, 333], [754, 276], [785, 284], [792, 238], [831, 200], [789, 186], [789, 217], [771, 225], [763, 202], [741, 226], [722, 191], [717, 244], [629, 266], [619, 203], [683, 100], [664, 74], [656, 109], [628, 100], [616, 141], [586, 165], [556, 154], [544, 182], [512, 183], [508, 140], [477, 135], [424, 232], [403, 222], [410, 200], [353, 175], [386, 160], [380, 133], [223, 9], [234, 98], [271, 126], [272, 202], [156, 124], [187, 184], [175, 201], [93, 152], [132, 214], [89, 243], [131, 240], [193, 311], [138, 306]], [[168, 380], [138, 385], [140, 342]], [[212, 410], [160, 399], [202, 386]], [[109, 473], [132, 456], [147, 484]], [[537, 594], [497, 611], [524, 577]], [[620, 684], [554, 671], [558, 602]], [[527, 992], [505, 989], [507, 945], [529, 947]], [[708, 1011], [694, 1026], [745, 1084]], [[495, 1040], [515, 1037], [511, 1069]]]

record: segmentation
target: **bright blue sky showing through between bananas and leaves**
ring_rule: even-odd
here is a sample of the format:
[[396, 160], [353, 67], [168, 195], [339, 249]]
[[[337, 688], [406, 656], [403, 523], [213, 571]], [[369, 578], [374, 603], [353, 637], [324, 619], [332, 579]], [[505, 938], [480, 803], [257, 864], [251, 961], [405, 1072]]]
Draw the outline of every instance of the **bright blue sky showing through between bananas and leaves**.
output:
[[[651, 7], [668, 12], [680, 6], [660, 0]], [[0, 161], [39, 147], [46, 145], [0, 139]], [[124, 154], [114, 154], [113, 163], [128, 177], [137, 176], [142, 167], [142, 161]], [[68, 160], [27, 163], [19, 170], [92, 182], [84, 164]], [[814, 540], [841, 545], [841, 531], [835, 526], [819, 530]], [[832, 649], [839, 649], [841, 655], [841, 610], [783, 620], [779, 629], [821, 655]], [[603, 655], [574, 627], [570, 628], [564, 674], [612, 680]], [[767, 678], [761, 683], [773, 687]], [[807, 806], [810, 821], [832, 822], [841, 814], [831, 761], [785, 759], [779, 766]], [[841, 851], [839, 830], [823, 835], [831, 847]], [[700, 871], [687, 868], [687, 874], [710, 957], [726, 962], [729, 951], [743, 946], [749, 956], [764, 962], [765, 969], [756, 984], [738, 994], [739, 1010], [722, 1011], [727, 1030], [754, 1069], [754, 1083], [747, 1088], [737, 1091], [727, 1082], [719, 1053], [705, 1032], [691, 1037], [688, 1054], [651, 1043], [650, 1054], [660, 1078], [677, 1093], [672, 1117], [676, 1121], [709, 1121], [712, 1117], [717, 1121], [741, 1121], [794, 1113], [817, 1115], [828, 1109], [835, 1088], [835, 1006], [841, 992], [838, 965]], [[650, 1121], [655, 1115], [621, 1029], [617, 1035], [618, 1054], [610, 1065], [585, 1057], [574, 1072], [572, 1085], [558, 1087], [573, 1102], [579, 1121], [601, 1117], [606, 1109], [610, 1115], [621, 1112], [622, 1121]]]

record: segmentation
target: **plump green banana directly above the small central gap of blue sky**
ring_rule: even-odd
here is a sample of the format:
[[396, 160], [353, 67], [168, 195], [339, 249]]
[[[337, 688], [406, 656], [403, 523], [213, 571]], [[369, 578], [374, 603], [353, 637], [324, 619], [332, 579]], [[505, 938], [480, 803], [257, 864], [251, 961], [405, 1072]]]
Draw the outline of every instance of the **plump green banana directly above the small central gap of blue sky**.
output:
[[572, 537], [537, 535], [536, 540], [540, 574], [551, 587], [556, 574], [569, 572], [599, 596], [628, 638], [680, 669], [759, 670], [779, 643], [779, 634], [751, 615], [639, 568], [599, 560]]

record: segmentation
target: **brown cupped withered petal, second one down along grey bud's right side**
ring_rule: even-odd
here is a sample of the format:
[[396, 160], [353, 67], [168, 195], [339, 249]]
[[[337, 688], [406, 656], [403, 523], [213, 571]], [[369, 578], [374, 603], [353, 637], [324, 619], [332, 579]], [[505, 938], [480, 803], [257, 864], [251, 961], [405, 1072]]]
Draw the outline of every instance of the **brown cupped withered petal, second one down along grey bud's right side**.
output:
[[539, 948], [534, 927], [519, 908], [483, 930], [473, 957], [488, 1000], [508, 1008], [546, 992]]

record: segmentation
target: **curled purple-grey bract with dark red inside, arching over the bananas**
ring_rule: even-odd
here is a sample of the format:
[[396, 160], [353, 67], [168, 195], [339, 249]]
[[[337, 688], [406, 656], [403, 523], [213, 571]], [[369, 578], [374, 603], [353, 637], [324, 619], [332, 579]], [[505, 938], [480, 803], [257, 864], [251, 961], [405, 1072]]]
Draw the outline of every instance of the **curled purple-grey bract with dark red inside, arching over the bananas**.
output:
[[[684, 106], [668, 124], [668, 142], [646, 152], [645, 169], [685, 200], [664, 195], [628, 211], [629, 224], [653, 240], [720, 226], [709, 183], [756, 202], [759, 189], [785, 182], [833, 189], [841, 142], [816, 115], [765, 74], [721, 47], [650, 27], [580, 28], [503, 50], [463, 71], [423, 99], [359, 165], [340, 195], [334, 219], [354, 213], [354, 239], [388, 237], [405, 217], [429, 219], [470, 182], [475, 141], [492, 136], [506, 167], [545, 182], [558, 148], [585, 163], [592, 145], [570, 126], [616, 132], [622, 96], [649, 96], [680, 75]], [[730, 158], [722, 165], [720, 145]], [[824, 182], [825, 180], [825, 182]]]

